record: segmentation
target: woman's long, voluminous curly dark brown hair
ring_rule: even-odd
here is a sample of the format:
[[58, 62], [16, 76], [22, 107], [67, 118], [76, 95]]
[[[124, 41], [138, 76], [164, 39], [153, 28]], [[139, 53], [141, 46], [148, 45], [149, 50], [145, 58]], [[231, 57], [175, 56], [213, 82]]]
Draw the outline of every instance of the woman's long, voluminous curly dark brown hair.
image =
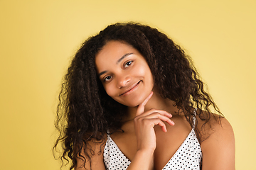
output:
[[[82, 153], [88, 159], [95, 154], [88, 146], [90, 140], [104, 143], [107, 132], [120, 130], [122, 117], [127, 111], [127, 106], [107, 95], [95, 69], [95, 55], [111, 40], [132, 45], [145, 57], [154, 77], [154, 86], [163, 98], [175, 102], [191, 127], [194, 108], [198, 108], [198, 118], [204, 124], [213, 114], [211, 107], [222, 115], [204, 89], [191, 58], [180, 46], [156, 28], [139, 23], [115, 23], [85, 40], [62, 84], [55, 121], [60, 135], [53, 149], [59, 144], [62, 146], [60, 159], [62, 162], [71, 159], [70, 169], [77, 165], [78, 155], [85, 162]], [[197, 126], [195, 130], [200, 139]]]

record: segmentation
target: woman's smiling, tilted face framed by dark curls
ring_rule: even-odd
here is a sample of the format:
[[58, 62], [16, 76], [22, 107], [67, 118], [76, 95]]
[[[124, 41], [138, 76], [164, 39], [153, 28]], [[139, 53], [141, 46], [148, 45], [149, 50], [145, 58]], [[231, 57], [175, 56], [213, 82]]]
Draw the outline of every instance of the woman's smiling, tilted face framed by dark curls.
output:
[[97, 53], [95, 64], [107, 94], [125, 106], [138, 106], [153, 89], [149, 65], [131, 45], [107, 42]]

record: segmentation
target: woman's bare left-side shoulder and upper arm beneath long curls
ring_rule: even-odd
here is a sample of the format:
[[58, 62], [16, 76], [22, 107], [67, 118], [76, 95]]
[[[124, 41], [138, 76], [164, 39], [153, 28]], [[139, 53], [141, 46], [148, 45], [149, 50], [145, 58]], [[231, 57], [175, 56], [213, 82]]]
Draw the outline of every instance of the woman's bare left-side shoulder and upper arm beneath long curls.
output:
[[[103, 151], [105, 147], [105, 141], [90, 140], [87, 142], [87, 145], [82, 147], [82, 152], [78, 155], [76, 161], [77, 166], [75, 170], [84, 170], [84, 169], [99, 169], [105, 170], [105, 164], [103, 161]], [[86, 147], [87, 153], [83, 150]]]

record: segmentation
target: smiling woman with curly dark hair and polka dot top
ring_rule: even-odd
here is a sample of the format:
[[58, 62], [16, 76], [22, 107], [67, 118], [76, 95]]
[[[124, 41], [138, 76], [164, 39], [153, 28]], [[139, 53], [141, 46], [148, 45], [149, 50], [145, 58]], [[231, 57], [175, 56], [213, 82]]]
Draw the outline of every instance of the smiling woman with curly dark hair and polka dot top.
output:
[[57, 113], [55, 148], [70, 169], [235, 169], [228, 120], [181, 47], [149, 26], [116, 23], [88, 38]]

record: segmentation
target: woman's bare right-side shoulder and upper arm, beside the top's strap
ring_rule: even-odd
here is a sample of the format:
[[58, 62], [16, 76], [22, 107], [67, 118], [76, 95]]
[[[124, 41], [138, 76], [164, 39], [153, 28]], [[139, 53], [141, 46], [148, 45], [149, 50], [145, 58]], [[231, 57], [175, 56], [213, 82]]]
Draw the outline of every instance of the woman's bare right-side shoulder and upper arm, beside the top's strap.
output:
[[[198, 120], [198, 125], [203, 125]], [[235, 169], [235, 137], [226, 118], [211, 115], [206, 125], [198, 127], [203, 140], [203, 169]]]

